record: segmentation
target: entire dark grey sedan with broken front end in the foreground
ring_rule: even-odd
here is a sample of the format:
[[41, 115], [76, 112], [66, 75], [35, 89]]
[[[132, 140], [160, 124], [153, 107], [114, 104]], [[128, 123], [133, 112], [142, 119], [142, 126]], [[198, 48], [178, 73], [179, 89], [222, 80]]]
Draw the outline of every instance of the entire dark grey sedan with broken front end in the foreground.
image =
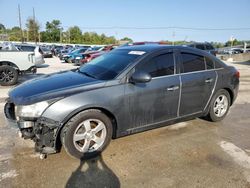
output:
[[63, 145], [89, 158], [112, 138], [196, 117], [220, 121], [238, 88], [239, 72], [204, 51], [127, 46], [17, 86], [4, 111], [36, 151], [56, 153]]

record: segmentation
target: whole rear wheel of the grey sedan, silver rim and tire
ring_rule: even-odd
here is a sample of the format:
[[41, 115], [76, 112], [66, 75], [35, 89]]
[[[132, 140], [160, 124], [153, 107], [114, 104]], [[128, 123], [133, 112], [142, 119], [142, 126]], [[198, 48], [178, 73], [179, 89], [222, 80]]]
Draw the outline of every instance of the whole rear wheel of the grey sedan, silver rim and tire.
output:
[[228, 91], [219, 90], [212, 98], [208, 119], [211, 121], [221, 121], [225, 118], [230, 108], [231, 99]]

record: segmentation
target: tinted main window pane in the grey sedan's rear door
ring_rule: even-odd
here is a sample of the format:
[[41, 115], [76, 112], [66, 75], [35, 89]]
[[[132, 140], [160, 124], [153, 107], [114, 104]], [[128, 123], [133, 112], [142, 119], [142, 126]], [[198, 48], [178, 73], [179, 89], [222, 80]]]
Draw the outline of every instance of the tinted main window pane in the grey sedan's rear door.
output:
[[192, 53], [182, 52], [182, 73], [205, 70], [204, 57]]

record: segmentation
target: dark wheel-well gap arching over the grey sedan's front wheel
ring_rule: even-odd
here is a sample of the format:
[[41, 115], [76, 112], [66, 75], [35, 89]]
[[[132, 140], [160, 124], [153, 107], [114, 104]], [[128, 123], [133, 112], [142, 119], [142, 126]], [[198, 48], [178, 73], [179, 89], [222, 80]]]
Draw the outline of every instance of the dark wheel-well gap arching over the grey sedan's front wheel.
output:
[[113, 133], [112, 133], [112, 138], [116, 138], [116, 130], [117, 130], [117, 121], [116, 121], [116, 118], [115, 116], [108, 110], [106, 110], [105, 108], [87, 108], [87, 109], [84, 109], [84, 110], [81, 110], [75, 114], [73, 114], [72, 116], [70, 116], [67, 121], [65, 121], [63, 123], [63, 125], [60, 127], [60, 130], [58, 131], [58, 134], [57, 134], [57, 137], [56, 137], [56, 148], [57, 149], [60, 149], [61, 147], [61, 131], [63, 129], [63, 127], [65, 126], [65, 124], [72, 118], [74, 117], [75, 115], [85, 111], [85, 110], [100, 110], [101, 112], [103, 112], [106, 116], [108, 116], [108, 118], [110, 118], [111, 120], [111, 123], [112, 123], [112, 126], [113, 126]]

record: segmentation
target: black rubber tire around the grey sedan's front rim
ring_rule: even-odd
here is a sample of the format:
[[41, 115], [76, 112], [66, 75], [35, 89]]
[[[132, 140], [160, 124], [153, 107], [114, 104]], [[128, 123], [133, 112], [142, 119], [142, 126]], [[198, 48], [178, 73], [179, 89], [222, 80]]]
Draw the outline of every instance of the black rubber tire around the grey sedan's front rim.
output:
[[[97, 150], [90, 151], [90, 152], [89, 151], [80, 152], [75, 146], [76, 143], [74, 142], [73, 138], [75, 135], [75, 131], [77, 131], [81, 123], [89, 119], [97, 119], [97, 120], [100, 120], [104, 124], [106, 128], [106, 137], [105, 137], [104, 143]], [[109, 144], [112, 138], [112, 134], [113, 134], [112, 123], [110, 119], [104, 113], [102, 113], [99, 110], [86, 110], [72, 117], [68, 121], [68, 123], [63, 127], [62, 132], [61, 132], [61, 142], [66, 152], [70, 156], [75, 157], [77, 159], [89, 159], [92, 157], [96, 157], [107, 147], [107, 145]], [[85, 140], [86, 139], [84, 139], [84, 144], [85, 144]]]

